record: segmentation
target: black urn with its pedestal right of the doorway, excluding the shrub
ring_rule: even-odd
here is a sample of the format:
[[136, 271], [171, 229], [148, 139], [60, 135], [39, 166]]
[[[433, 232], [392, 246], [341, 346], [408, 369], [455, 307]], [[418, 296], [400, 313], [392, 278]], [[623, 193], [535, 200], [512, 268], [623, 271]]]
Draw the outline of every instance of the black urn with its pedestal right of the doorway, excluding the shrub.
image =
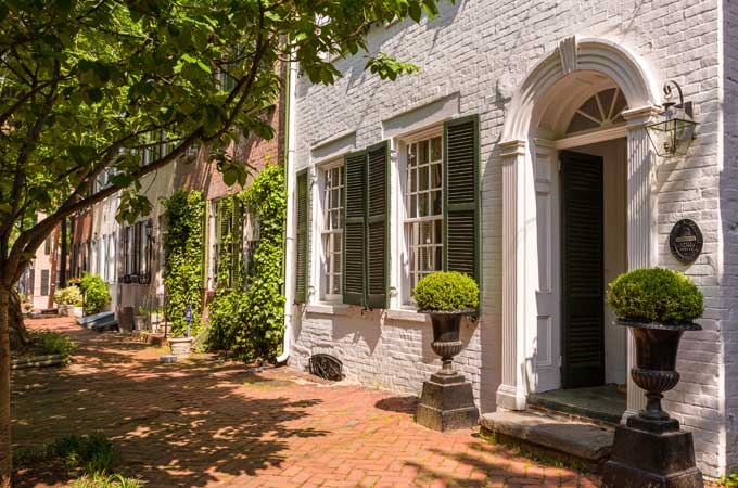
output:
[[636, 367], [633, 382], [646, 390], [647, 406], [615, 428], [612, 458], [602, 470], [606, 486], [702, 488], [691, 433], [661, 409], [663, 394], [679, 382], [676, 354], [682, 335], [700, 331], [696, 323], [662, 324], [618, 319], [633, 333]]

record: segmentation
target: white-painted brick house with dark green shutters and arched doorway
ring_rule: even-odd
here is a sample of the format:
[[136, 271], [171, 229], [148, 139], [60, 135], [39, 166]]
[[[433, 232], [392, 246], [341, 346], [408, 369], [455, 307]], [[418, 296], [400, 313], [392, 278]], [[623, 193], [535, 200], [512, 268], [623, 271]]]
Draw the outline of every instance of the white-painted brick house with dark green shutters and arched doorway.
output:
[[[627, 269], [678, 269], [705, 295], [704, 330], [685, 335], [665, 408], [694, 433], [705, 474], [725, 473], [738, 462], [737, 24], [738, 4], [720, 0], [442, 2], [433, 21], [368, 33], [372, 52], [420, 73], [383, 82], [357, 55], [335, 60], [344, 77], [333, 86], [301, 77], [290, 363], [330, 354], [351, 378], [418, 394], [438, 360], [411, 287], [460, 269], [478, 278], [482, 305], [455, 362], [482, 412], [525, 409], [532, 393], [627, 383], [629, 414], [644, 399], [627, 377], [626, 332], [609, 325], [605, 283]], [[645, 128], [667, 80], [700, 124], [685, 157], [657, 156]], [[601, 192], [577, 200], [561, 187], [576, 178]], [[562, 224], [576, 211], [595, 220]], [[667, 243], [684, 218], [704, 237], [691, 265]], [[562, 260], [600, 246], [595, 264]], [[562, 312], [575, 306], [571, 277], [598, 295], [599, 337]], [[577, 373], [589, 360], [596, 373]]]

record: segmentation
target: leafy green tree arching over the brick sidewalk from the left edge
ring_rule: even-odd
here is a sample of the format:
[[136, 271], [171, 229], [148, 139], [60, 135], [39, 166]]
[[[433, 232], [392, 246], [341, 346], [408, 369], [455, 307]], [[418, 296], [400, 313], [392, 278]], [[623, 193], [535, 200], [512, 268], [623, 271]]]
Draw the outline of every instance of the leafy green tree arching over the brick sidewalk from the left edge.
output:
[[[271, 138], [280, 62], [316, 84], [365, 51], [395, 79], [416, 66], [367, 52], [372, 25], [437, 13], [438, 0], [4, 0], [0, 2], [0, 477], [10, 478], [8, 296], [68, 215], [120, 191], [119, 218], [148, 213], [141, 177], [201, 144], [226, 182], [247, 167], [224, 149]], [[152, 151], [142, 158], [141, 151]], [[106, 185], [96, 185], [105, 179]], [[39, 213], [43, 215], [36, 218]]]

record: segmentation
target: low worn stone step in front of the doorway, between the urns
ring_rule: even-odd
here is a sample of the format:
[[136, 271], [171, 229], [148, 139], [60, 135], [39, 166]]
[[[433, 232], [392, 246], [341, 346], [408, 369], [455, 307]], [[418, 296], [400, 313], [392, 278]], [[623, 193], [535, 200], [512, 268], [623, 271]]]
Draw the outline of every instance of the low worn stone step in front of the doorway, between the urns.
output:
[[590, 467], [602, 464], [612, 452], [612, 428], [588, 422], [505, 411], [482, 415], [480, 425], [482, 434], [494, 435], [499, 442]]

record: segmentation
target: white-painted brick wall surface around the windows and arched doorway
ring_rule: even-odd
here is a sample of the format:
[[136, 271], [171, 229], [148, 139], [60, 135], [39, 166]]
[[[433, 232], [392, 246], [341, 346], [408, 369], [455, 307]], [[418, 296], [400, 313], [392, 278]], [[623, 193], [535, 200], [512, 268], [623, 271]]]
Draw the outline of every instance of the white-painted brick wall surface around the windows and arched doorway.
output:
[[[735, 1], [727, 3], [733, 3], [728, 10], [735, 11]], [[663, 162], [654, 171], [653, 189], [659, 195], [656, 245], [660, 265], [695, 278], [705, 293], [707, 311], [701, 322], [704, 332], [685, 337], [679, 357], [683, 381], [667, 395], [666, 407], [695, 433], [698, 461], [709, 475], [725, 466], [721, 326], [729, 317], [720, 287], [720, 7], [717, 0], [467, 0], [443, 4], [433, 22], [423, 21], [419, 26], [396, 23], [378, 27], [369, 36], [372, 51], [415, 62], [422, 68], [420, 74], [382, 82], [364, 72], [361, 56], [340, 60], [336, 64], [343, 79], [333, 87], [311, 86], [302, 79], [296, 100], [297, 169], [310, 164], [310, 149], [320, 141], [355, 130], [356, 147], [366, 147], [382, 140], [382, 120], [454, 93], [460, 97], [459, 115], [481, 115], [483, 314], [461, 362], [479, 364], [479, 371], [468, 374], [478, 382], [475, 394], [482, 410], [491, 411], [501, 368], [502, 206], [496, 143], [516, 87], [560, 39], [572, 35], [621, 43], [645, 60], [657, 84], [677, 80], [685, 95], [696, 102], [700, 136], [687, 158]], [[677, 265], [666, 245], [672, 224], [680, 218], [697, 220], [704, 233], [704, 253], [689, 267]], [[300, 324], [292, 360], [298, 365], [309, 354], [341, 344], [333, 354], [341, 351], [349, 375], [398, 391], [417, 391], [433, 369], [418, 361], [424, 359], [419, 351], [425, 347], [418, 339], [425, 341], [423, 334], [429, 334], [422, 328], [381, 325], [371, 317], [318, 318], [298, 309], [295, 317]], [[396, 343], [387, 356], [391, 338]], [[738, 341], [733, 341], [738, 348]], [[738, 397], [738, 390], [735, 393]]]

